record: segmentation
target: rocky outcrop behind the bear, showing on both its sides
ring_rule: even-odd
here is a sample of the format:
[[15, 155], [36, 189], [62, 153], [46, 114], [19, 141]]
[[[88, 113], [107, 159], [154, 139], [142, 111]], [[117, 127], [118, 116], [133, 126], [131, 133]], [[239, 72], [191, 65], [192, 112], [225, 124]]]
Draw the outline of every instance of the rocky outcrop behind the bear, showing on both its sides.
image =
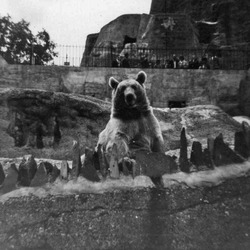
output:
[[[96, 146], [99, 133], [110, 116], [111, 104], [96, 98], [31, 89], [0, 89], [0, 155], [72, 159], [74, 140], [80, 152]], [[165, 151], [180, 148], [180, 132], [186, 128], [187, 144], [223, 134], [234, 144], [238, 122], [220, 108], [192, 106], [181, 109], [155, 109], [165, 141]]]

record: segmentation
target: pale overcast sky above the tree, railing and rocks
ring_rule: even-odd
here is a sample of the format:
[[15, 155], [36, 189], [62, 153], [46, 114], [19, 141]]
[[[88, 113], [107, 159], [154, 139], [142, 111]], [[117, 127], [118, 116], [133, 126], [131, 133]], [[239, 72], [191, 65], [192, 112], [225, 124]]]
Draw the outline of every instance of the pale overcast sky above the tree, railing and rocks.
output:
[[149, 13], [151, 0], [1, 0], [0, 15], [24, 19], [36, 34], [43, 28], [57, 44], [84, 45], [122, 14]]

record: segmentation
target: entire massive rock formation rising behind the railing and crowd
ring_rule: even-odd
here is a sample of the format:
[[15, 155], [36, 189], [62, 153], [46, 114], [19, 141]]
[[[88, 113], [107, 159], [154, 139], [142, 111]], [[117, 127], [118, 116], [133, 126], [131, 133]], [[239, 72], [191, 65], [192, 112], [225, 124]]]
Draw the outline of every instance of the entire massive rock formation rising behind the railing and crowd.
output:
[[[111, 66], [128, 43], [160, 49], [199, 47], [211, 56], [214, 48], [246, 49], [250, 44], [249, 11], [248, 0], [152, 0], [149, 15], [120, 16], [105, 25], [98, 37], [90, 35], [81, 65], [102, 66], [106, 60], [105, 66], [108, 61]], [[222, 51], [217, 56], [233, 56], [228, 53]], [[243, 52], [238, 57], [249, 55]]]

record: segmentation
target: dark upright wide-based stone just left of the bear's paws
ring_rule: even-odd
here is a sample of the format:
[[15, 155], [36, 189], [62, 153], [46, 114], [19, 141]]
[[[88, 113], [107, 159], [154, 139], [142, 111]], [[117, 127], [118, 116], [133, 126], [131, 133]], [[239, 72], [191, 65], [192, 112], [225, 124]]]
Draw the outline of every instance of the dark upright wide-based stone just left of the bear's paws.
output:
[[93, 160], [94, 152], [89, 148], [85, 148], [85, 159], [83, 167], [81, 168], [80, 175], [86, 178], [89, 181], [99, 182], [100, 178], [97, 175], [94, 160]]

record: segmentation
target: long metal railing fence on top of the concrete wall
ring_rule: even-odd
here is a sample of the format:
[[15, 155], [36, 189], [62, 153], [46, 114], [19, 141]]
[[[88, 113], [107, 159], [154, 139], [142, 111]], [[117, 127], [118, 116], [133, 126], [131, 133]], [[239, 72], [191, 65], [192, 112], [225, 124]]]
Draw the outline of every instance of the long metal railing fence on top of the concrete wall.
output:
[[250, 66], [250, 49], [158, 49], [136, 44], [124, 47], [57, 45], [55, 52], [57, 57], [48, 65], [236, 70]]

